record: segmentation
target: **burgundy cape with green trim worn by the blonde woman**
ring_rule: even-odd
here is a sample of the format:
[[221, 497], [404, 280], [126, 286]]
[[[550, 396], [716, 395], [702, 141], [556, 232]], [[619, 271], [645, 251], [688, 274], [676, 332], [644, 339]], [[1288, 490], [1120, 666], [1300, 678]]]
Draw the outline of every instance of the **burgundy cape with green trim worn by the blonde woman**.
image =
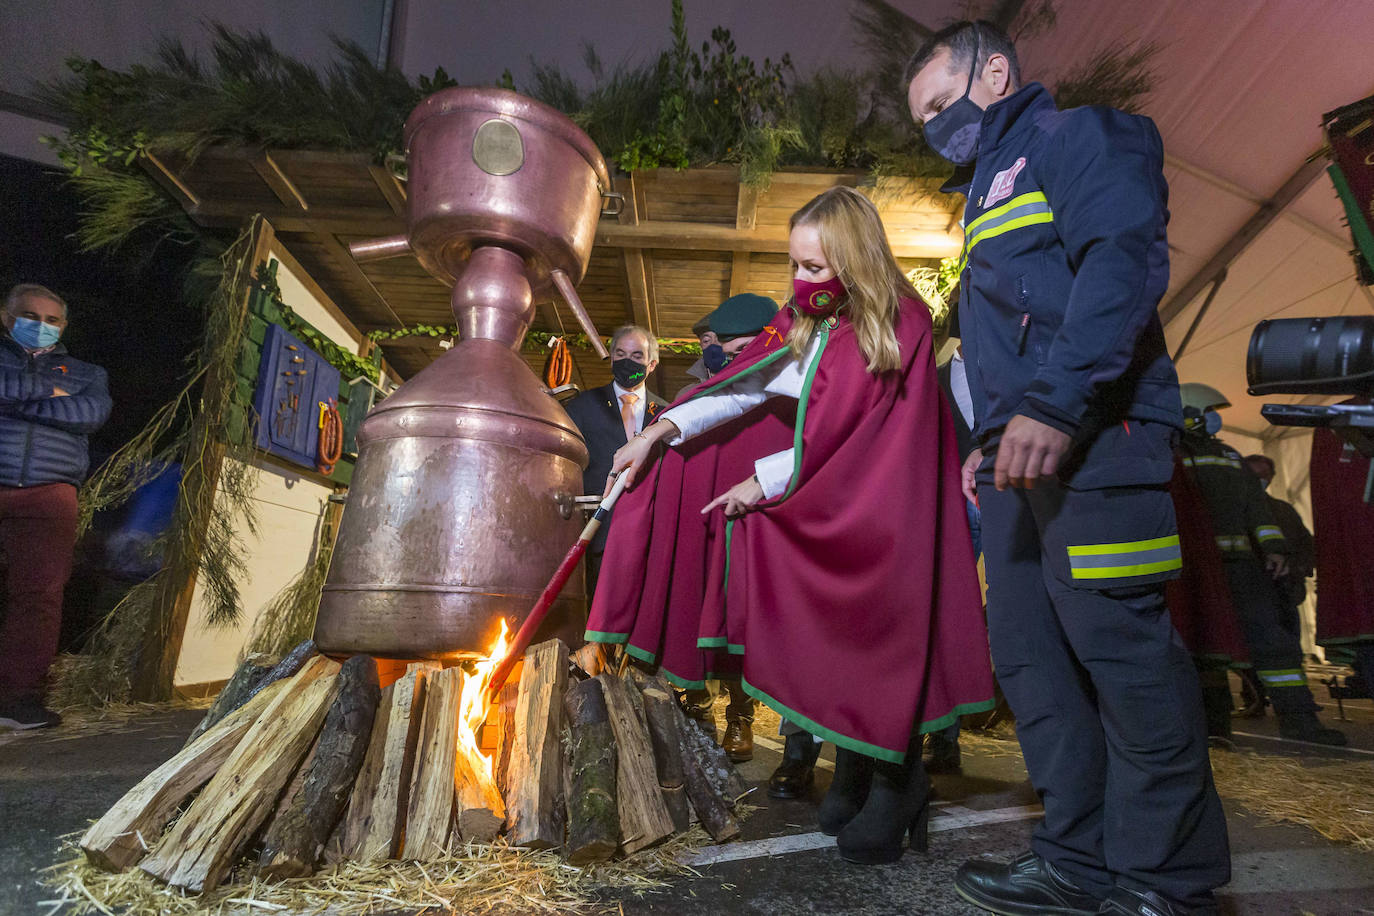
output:
[[[679, 402], [778, 360], [791, 316]], [[982, 597], [930, 313], [903, 301], [901, 368], [874, 375], [845, 317], [822, 325], [798, 401], [769, 398], [666, 449], [616, 507], [587, 639], [676, 684], [745, 689], [842, 747], [889, 761], [992, 707]], [[782, 497], [728, 522], [702, 507], [796, 448]]]

